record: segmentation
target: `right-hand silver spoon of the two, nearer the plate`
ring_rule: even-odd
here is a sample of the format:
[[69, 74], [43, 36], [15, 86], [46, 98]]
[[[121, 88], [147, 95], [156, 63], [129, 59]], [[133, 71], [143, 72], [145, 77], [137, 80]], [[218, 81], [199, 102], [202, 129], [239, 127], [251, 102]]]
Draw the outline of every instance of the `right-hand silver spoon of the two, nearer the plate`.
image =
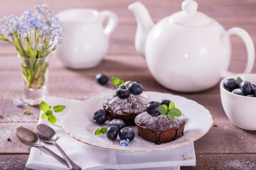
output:
[[43, 142], [50, 143], [59, 149], [61, 154], [63, 154], [66, 162], [68, 163], [70, 169], [81, 169], [80, 166], [75, 164], [63, 151], [63, 149], [61, 149], [60, 146], [56, 143], [57, 133], [55, 132], [55, 130], [53, 130], [53, 128], [50, 128], [50, 126], [43, 123], [38, 124], [36, 126], [36, 134]]

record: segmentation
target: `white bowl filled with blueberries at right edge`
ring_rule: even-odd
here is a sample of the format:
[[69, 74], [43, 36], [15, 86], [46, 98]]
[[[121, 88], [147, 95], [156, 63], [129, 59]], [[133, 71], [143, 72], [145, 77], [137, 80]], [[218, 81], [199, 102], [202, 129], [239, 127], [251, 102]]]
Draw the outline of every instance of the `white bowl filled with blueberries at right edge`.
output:
[[256, 130], [256, 74], [235, 74], [220, 81], [220, 98], [238, 128]]

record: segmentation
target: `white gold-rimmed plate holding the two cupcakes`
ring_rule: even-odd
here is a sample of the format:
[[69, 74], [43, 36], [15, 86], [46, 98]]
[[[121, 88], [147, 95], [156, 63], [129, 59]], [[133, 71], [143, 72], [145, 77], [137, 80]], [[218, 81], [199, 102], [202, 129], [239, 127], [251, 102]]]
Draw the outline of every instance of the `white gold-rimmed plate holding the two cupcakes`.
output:
[[206, 135], [213, 125], [213, 117], [210, 115], [210, 112], [200, 104], [196, 103], [196, 101], [189, 100], [182, 96], [162, 94], [153, 91], [146, 91], [143, 94], [149, 96], [152, 101], [161, 101], [163, 98], [168, 98], [171, 101], [174, 101], [176, 108], [179, 108], [188, 118], [182, 137], [179, 137], [172, 142], [156, 145], [154, 142], [148, 142], [143, 140], [142, 137], [139, 137], [136, 126], [133, 126], [130, 128], [134, 130], [136, 137], [132, 142], [129, 142], [128, 147], [122, 147], [119, 144], [119, 137], [117, 137], [117, 140], [111, 141], [107, 139], [106, 135], [95, 135], [95, 130], [102, 127], [107, 128], [109, 121], [107, 120], [103, 125], [97, 125], [92, 120], [93, 113], [102, 109], [103, 101], [106, 98], [110, 98], [111, 95], [96, 96], [81, 101], [70, 108], [65, 115], [63, 115], [63, 128], [71, 137], [75, 138], [75, 140], [87, 145], [118, 151], [146, 152], [186, 145], [189, 142], [198, 140], [200, 137], [203, 137], [203, 135]]

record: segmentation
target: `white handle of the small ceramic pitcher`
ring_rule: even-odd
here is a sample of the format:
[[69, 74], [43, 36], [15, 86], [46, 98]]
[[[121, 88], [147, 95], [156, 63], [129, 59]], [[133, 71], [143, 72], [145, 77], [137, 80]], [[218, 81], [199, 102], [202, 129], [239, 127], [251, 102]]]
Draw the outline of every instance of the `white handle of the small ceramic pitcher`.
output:
[[117, 21], [118, 21], [117, 15], [112, 11], [100, 11], [99, 13], [102, 18], [102, 22], [105, 20], [105, 18], [109, 18], [109, 21], [107, 22], [107, 26], [104, 29], [104, 33], [110, 36], [114, 28], [117, 26]]

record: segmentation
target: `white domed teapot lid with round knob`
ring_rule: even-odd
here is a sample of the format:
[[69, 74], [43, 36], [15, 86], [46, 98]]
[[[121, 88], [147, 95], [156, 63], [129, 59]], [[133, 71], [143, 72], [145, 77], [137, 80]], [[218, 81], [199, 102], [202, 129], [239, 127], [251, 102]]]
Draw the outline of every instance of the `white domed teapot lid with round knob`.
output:
[[204, 26], [210, 23], [206, 14], [198, 12], [198, 4], [193, 0], [184, 0], [181, 4], [182, 11], [171, 15], [170, 21], [181, 26]]

